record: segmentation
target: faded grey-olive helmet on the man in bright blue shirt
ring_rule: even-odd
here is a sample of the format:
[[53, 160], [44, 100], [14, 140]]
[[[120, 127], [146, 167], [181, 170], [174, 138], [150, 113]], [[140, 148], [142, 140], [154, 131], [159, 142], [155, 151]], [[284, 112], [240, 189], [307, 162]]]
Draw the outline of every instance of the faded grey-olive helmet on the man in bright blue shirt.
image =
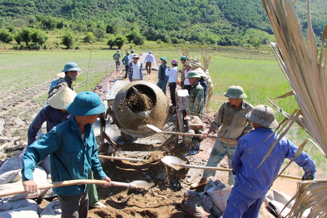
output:
[[278, 122], [275, 119], [275, 112], [267, 105], [255, 106], [252, 111], [246, 114], [246, 118], [254, 124], [275, 129], [278, 127]]

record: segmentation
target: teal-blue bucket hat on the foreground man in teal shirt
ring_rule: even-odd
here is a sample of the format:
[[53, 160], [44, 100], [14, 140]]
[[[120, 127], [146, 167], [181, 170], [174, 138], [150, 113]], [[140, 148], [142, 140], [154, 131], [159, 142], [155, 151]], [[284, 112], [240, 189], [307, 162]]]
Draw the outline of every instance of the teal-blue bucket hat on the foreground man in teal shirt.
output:
[[100, 96], [91, 91], [78, 93], [74, 101], [67, 106], [67, 112], [76, 116], [90, 116], [106, 111]]

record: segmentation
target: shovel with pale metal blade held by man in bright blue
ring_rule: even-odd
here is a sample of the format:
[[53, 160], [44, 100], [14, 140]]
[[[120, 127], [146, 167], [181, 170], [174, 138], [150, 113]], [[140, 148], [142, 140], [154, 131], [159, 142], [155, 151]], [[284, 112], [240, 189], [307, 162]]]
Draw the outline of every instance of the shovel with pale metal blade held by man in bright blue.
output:
[[[164, 158], [161, 158], [161, 161], [165, 163], [166, 165], [172, 167], [173, 169], [176, 169], [178, 171], [181, 168], [196, 168], [196, 169], [207, 169], [209, 171], [225, 171], [225, 172], [231, 172], [231, 169], [228, 168], [222, 168], [222, 167], [211, 167], [211, 166], [195, 166], [191, 164], [186, 164], [186, 161], [175, 157], [167, 155]], [[288, 178], [288, 179], [295, 179], [295, 180], [302, 180], [301, 177], [297, 176], [289, 176], [281, 174], [280, 177]]]

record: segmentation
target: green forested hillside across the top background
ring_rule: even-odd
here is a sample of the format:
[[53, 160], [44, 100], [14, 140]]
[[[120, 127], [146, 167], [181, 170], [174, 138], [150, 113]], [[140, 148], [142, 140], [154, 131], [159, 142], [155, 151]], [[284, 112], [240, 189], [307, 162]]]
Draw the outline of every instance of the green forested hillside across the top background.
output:
[[[327, 20], [325, 0], [311, 0], [317, 43]], [[307, 1], [295, 6], [307, 27]], [[0, 28], [92, 33], [101, 40], [122, 35], [129, 42], [145, 39], [171, 43], [254, 45], [273, 34], [261, 0], [0, 0]], [[33, 31], [33, 30], [31, 30]], [[1, 35], [1, 33], [0, 33]], [[14, 36], [12, 36], [14, 39]]]

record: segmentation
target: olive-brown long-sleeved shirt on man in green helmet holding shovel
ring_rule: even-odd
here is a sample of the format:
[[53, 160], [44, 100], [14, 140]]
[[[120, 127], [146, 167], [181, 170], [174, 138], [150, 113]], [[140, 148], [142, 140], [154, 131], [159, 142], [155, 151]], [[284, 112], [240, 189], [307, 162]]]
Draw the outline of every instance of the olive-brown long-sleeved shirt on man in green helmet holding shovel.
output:
[[237, 110], [228, 101], [224, 102], [211, 123], [216, 130], [219, 130], [218, 137], [238, 139], [243, 133], [250, 132], [253, 126], [245, 115], [252, 109], [253, 106], [246, 101], [242, 101], [241, 107]]

